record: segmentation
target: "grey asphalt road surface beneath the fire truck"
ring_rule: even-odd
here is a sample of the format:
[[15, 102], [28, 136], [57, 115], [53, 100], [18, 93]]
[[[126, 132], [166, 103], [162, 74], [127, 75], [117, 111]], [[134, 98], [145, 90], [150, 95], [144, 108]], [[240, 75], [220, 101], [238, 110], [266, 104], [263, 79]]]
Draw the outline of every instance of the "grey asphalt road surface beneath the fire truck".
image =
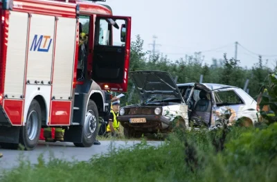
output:
[[[0, 158], [0, 171], [3, 169], [9, 170], [12, 167], [19, 165], [19, 158], [30, 161], [31, 164], [37, 163], [37, 158], [40, 154], [44, 154], [45, 161], [48, 161], [49, 156], [65, 159], [66, 161], [88, 161], [93, 155], [106, 154], [110, 151], [111, 144], [116, 148], [123, 148], [140, 143], [140, 141], [118, 141], [118, 140], [102, 140], [101, 145], [93, 145], [89, 148], [75, 147], [73, 143], [45, 143], [39, 141], [39, 145], [32, 151], [19, 151], [11, 149], [1, 149], [3, 157]], [[148, 141], [149, 145], [157, 146], [161, 144], [159, 141]], [[22, 156], [23, 155], [23, 156]]]

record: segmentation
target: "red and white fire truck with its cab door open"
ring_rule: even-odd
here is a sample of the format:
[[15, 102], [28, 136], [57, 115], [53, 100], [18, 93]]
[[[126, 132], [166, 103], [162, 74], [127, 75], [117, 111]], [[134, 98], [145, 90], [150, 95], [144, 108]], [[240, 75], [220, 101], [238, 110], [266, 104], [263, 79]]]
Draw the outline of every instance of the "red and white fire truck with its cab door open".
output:
[[[105, 90], [127, 91], [131, 17], [96, 1], [3, 0], [0, 7], [1, 147], [34, 149], [46, 127], [91, 147], [107, 113]], [[79, 42], [80, 28], [87, 43]]]

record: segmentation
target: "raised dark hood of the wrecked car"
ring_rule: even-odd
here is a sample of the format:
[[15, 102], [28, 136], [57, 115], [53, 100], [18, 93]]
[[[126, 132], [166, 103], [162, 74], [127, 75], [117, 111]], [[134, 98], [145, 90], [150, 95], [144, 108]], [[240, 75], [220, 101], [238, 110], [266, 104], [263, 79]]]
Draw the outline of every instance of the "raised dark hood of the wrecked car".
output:
[[132, 71], [129, 75], [144, 99], [150, 98], [150, 95], [164, 94], [174, 95], [184, 102], [177, 84], [166, 71]]

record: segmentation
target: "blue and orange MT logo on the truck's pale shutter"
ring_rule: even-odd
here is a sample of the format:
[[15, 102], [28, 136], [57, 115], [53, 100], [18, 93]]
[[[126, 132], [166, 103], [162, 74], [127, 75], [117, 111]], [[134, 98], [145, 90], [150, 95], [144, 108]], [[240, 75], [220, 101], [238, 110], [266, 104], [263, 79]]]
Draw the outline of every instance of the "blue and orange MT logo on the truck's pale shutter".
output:
[[[37, 37], [39, 37], [39, 39], [37, 39]], [[44, 39], [44, 44], [43, 46], [42, 45], [42, 40]], [[48, 44], [47, 44], [48, 42]], [[51, 46], [51, 43], [52, 43], [52, 39], [51, 39], [51, 36], [49, 35], [35, 35], [34, 38], [33, 38], [33, 43], [32, 43], [32, 46], [30, 46], [30, 51], [38, 51], [38, 52], [47, 52], [49, 51], [49, 48]], [[46, 45], [48, 45], [47, 48]]]

